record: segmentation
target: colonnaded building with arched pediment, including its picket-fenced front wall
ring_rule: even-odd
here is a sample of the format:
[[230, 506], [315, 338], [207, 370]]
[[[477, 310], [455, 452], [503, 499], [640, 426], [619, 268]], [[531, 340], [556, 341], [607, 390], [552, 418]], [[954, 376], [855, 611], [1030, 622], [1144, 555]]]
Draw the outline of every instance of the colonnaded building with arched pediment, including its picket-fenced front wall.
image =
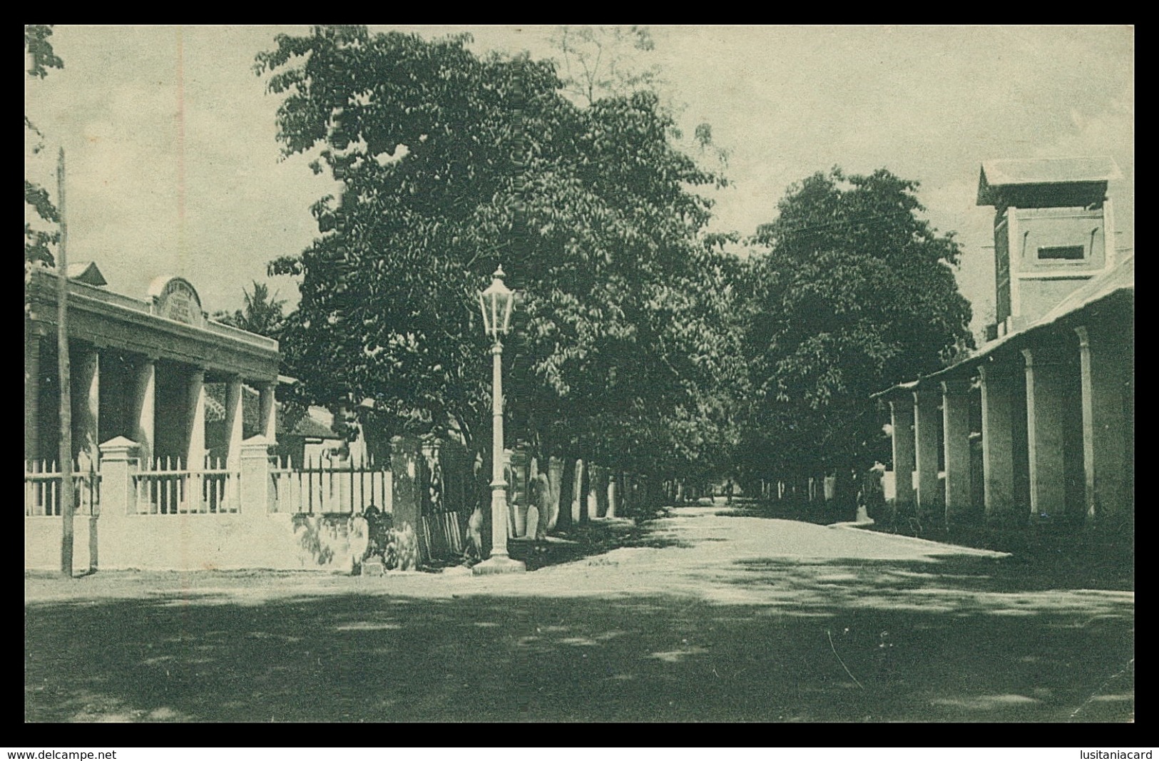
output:
[[[371, 451], [321, 408], [282, 426], [277, 389], [293, 379], [277, 341], [211, 320], [184, 278], [140, 299], [92, 263], [67, 276], [75, 570], [350, 570], [364, 514], [414, 530], [421, 561], [462, 554], [475, 500], [461, 446], [400, 436]], [[59, 285], [25, 263], [27, 569], [59, 569], [66, 535]], [[512, 504], [527, 491], [511, 490]]]

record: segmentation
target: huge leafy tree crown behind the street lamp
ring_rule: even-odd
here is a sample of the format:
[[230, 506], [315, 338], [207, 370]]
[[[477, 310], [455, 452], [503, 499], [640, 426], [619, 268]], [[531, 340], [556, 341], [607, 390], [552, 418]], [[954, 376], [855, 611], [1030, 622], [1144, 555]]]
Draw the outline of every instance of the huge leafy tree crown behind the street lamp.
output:
[[272, 265], [301, 279], [283, 345], [312, 400], [369, 397], [388, 430], [472, 441], [490, 401], [475, 293], [502, 263], [520, 298], [509, 438], [656, 459], [701, 414], [712, 367], [681, 352], [710, 315], [668, 317], [713, 256], [686, 188], [714, 177], [669, 144], [655, 94], [581, 108], [551, 63], [481, 59], [462, 36], [276, 42], [257, 71], [284, 95], [284, 152], [343, 183], [314, 206], [321, 237]]

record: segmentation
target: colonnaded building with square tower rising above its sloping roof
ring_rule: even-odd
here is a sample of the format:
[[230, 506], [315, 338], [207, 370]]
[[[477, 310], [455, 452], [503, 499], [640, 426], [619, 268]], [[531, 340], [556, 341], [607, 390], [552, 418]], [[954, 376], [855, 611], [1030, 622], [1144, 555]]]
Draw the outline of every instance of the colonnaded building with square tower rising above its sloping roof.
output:
[[982, 164], [997, 322], [889, 403], [898, 515], [1134, 530], [1135, 257], [1115, 246], [1110, 159]]

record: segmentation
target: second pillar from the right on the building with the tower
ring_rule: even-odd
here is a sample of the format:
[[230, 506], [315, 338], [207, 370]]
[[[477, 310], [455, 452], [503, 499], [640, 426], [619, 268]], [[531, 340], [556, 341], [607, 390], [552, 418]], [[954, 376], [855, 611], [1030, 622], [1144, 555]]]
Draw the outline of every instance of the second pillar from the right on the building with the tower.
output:
[[1063, 425], [1067, 368], [1055, 352], [1023, 349], [1022, 356], [1026, 357], [1030, 514], [1062, 517], [1066, 507]]

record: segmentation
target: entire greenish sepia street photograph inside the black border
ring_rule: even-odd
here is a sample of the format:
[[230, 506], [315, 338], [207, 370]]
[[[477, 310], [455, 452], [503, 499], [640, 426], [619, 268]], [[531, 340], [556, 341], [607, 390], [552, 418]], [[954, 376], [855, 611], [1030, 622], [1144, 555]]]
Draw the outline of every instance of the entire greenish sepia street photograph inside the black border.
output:
[[24, 53], [25, 724], [1134, 723], [1132, 25]]

